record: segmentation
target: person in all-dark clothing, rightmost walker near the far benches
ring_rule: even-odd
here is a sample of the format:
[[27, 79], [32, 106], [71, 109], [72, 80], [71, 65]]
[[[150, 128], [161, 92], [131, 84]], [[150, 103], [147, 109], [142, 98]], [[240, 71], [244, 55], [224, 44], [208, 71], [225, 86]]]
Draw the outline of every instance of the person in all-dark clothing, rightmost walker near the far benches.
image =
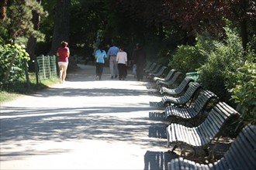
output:
[[137, 43], [136, 49], [133, 51], [133, 60], [133, 66], [136, 66], [137, 69], [137, 80], [142, 81], [144, 74], [144, 64], [146, 63], [146, 53], [139, 43]]

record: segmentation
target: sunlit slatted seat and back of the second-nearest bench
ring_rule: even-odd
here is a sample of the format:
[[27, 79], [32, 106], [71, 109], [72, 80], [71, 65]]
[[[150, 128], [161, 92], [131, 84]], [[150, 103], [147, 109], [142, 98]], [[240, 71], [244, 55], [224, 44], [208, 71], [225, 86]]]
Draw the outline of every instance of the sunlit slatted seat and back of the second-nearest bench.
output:
[[[186, 145], [192, 145], [192, 147], [202, 147], [204, 145], [209, 145], [213, 138], [216, 138], [220, 134], [223, 124], [227, 122], [232, 115], [235, 116], [238, 113], [230, 110], [222, 110], [225, 107], [223, 102], [219, 102], [213, 109], [209, 112], [206, 120], [202, 122], [198, 127], [188, 128], [182, 124], [170, 124], [171, 130], [167, 133], [170, 138], [168, 138], [168, 144], [172, 142], [184, 143]], [[227, 112], [227, 113], [225, 113]], [[229, 115], [229, 116], [227, 116]]]

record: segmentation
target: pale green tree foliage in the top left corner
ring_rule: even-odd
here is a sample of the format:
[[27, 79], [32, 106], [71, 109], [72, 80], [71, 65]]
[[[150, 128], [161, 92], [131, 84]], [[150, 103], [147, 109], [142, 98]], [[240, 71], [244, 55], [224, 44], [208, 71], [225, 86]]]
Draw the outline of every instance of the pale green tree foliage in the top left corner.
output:
[[0, 25], [0, 44], [3, 45], [19, 36], [43, 38], [43, 33], [34, 29], [33, 12], [41, 17], [46, 17], [48, 13], [43, 11], [42, 5], [36, 0], [9, 1], [6, 12], [7, 19], [1, 21]]

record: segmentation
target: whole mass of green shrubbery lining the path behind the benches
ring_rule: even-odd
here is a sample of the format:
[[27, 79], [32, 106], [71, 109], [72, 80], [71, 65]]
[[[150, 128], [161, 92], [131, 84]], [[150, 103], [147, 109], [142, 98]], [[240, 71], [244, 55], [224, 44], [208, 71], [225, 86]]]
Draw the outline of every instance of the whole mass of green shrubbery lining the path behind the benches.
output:
[[169, 66], [182, 72], [199, 71], [199, 83], [216, 93], [220, 100], [237, 107], [242, 114], [241, 127], [255, 124], [256, 38], [254, 36], [245, 51], [237, 31], [229, 28], [225, 31], [226, 37], [222, 41], [206, 35], [198, 36], [195, 46], [178, 46]]

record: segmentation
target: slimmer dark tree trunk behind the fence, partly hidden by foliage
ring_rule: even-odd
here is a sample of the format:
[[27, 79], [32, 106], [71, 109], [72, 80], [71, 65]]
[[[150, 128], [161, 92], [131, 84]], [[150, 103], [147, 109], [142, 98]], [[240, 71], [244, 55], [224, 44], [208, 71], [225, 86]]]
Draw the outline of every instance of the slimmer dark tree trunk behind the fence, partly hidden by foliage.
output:
[[[39, 4], [41, 4], [41, 0], [36, 0], [36, 2], [38, 2]], [[40, 27], [40, 15], [33, 11], [33, 29], [35, 30], [39, 30]], [[35, 65], [34, 65], [34, 60], [35, 60], [35, 49], [36, 49], [36, 37], [34, 36], [30, 36], [29, 40], [27, 42], [27, 47], [26, 47], [26, 51], [27, 53], [29, 53], [30, 56], [30, 60], [29, 60], [29, 71], [35, 71]]]

